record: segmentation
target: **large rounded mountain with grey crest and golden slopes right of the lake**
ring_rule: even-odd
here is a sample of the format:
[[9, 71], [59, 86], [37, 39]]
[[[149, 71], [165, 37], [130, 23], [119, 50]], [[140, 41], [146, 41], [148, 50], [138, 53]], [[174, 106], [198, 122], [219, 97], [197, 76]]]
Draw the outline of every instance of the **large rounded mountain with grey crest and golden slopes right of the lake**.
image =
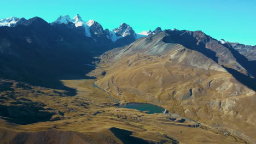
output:
[[[186, 39], [197, 40], [195, 45], [183, 39], [187, 34]], [[248, 75], [233, 53], [201, 32], [162, 32], [104, 53], [100, 67], [89, 75], [98, 78], [97, 86], [123, 102], [160, 105], [253, 138], [256, 95], [252, 85], [244, 85], [230, 73], [232, 69]]]

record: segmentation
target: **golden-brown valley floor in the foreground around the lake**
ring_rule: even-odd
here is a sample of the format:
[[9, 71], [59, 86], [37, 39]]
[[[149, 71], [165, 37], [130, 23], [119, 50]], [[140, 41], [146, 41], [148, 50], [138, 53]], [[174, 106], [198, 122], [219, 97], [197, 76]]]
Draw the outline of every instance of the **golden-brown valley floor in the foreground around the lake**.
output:
[[2, 117], [1, 142], [246, 143], [224, 129], [212, 129], [177, 113], [147, 114], [120, 108], [117, 106], [119, 100], [94, 87], [94, 81], [63, 80], [65, 86], [77, 89], [74, 97], [60, 96], [63, 91], [54, 89], [31, 87], [28, 92], [25, 87], [11, 85], [15, 98], [6, 96], [7, 92], [1, 93], [1, 105], [8, 106], [9, 111], [13, 110], [10, 106], [37, 103], [42, 107], [39, 111], [47, 111], [53, 116], [48, 122], [36, 117], [39, 121], [30, 124], [19, 123], [20, 117], [13, 117], [16, 119], [13, 123]]

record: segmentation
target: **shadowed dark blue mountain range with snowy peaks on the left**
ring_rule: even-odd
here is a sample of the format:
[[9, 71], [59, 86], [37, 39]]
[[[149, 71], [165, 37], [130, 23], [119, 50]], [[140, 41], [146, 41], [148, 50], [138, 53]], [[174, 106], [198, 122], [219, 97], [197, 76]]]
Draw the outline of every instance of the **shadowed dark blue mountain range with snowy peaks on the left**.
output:
[[[150, 34], [160, 31], [156, 28]], [[60, 73], [83, 75], [93, 68], [89, 66], [92, 57], [146, 36], [126, 23], [109, 31], [94, 20], [83, 21], [80, 15], [60, 16], [52, 23], [40, 17], [9, 17], [0, 20], [0, 76], [56, 87], [53, 77]]]

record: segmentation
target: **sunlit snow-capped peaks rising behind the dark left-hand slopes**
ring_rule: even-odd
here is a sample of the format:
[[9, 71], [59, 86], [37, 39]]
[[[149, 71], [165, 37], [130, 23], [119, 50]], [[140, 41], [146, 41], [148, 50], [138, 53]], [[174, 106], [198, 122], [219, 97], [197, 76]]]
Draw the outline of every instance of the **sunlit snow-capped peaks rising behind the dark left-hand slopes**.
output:
[[[19, 19], [17, 17], [9, 17], [0, 20], [0, 26], [15, 27], [24, 25], [27, 21], [28, 20], [24, 18]], [[118, 28], [115, 28], [112, 31], [103, 29], [100, 23], [94, 20], [86, 22], [79, 14], [75, 15], [73, 19], [68, 15], [60, 16], [54, 22], [50, 23], [50, 25], [68, 25], [71, 28], [79, 27], [85, 37], [90, 37], [95, 40], [96, 43], [104, 45], [113, 44], [115, 46], [123, 46], [132, 43], [138, 38], [147, 36], [135, 33], [132, 27], [126, 23], [121, 23]]]

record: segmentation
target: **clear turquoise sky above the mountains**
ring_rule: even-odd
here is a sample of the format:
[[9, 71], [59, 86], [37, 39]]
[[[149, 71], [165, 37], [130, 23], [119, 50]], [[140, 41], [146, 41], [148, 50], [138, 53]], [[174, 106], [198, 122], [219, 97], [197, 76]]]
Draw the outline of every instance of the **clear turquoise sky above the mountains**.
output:
[[218, 40], [256, 45], [256, 0], [12, 0], [1, 1], [0, 19], [39, 16], [53, 22], [75, 14], [103, 28], [125, 22], [137, 33], [156, 27], [201, 30]]

